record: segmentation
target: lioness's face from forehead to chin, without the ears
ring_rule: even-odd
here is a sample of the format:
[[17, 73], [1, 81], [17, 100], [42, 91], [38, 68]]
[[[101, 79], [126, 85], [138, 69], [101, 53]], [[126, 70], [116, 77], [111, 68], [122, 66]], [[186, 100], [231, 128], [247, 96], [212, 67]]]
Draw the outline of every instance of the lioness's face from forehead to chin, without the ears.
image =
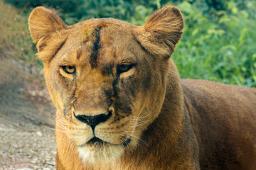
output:
[[166, 72], [168, 62], [163, 68], [149, 64], [158, 62], [131, 29], [104, 20], [90, 22], [99, 26], [88, 30], [84, 23], [62, 42], [45, 68], [46, 81], [58, 106], [59, 123], [64, 123], [82, 158], [110, 161], [126, 147], [135, 147], [142, 130], [159, 113], [156, 106], [165, 89], [161, 72]]

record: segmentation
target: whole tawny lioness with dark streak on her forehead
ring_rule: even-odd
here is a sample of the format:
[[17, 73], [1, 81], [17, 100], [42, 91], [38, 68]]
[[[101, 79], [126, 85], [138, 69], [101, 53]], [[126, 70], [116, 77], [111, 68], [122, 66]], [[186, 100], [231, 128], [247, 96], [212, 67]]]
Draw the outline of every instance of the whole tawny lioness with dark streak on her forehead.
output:
[[67, 26], [35, 8], [29, 30], [57, 108], [57, 169], [256, 169], [256, 89], [180, 79], [183, 17]]

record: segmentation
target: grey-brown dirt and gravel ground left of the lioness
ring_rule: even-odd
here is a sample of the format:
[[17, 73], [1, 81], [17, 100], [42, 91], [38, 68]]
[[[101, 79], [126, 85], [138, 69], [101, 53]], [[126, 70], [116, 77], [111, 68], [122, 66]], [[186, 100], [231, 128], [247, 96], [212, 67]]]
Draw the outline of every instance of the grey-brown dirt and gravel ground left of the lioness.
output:
[[1, 53], [0, 65], [0, 170], [55, 169], [55, 108], [41, 68]]

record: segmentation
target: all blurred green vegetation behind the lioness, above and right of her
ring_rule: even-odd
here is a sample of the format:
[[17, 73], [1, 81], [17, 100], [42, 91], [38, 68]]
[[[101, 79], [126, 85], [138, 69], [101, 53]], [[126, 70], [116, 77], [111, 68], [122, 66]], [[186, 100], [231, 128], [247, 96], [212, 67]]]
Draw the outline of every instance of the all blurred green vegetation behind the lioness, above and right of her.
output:
[[[173, 55], [181, 77], [256, 87], [254, 0], [7, 1], [20, 8], [23, 18], [28, 17], [33, 7], [43, 5], [56, 8], [68, 24], [87, 18], [112, 17], [138, 26], [162, 6], [175, 5], [185, 18], [183, 37]], [[23, 43], [31, 43], [31, 40], [26, 38]], [[31, 51], [27, 60], [34, 58], [35, 49]]]

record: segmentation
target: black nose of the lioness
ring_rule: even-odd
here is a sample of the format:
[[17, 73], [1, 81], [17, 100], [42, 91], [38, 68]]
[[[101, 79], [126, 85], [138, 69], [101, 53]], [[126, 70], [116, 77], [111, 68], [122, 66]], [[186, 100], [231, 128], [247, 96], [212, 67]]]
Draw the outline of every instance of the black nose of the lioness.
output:
[[[74, 115], [75, 115], [75, 113], [74, 113]], [[106, 114], [75, 115], [75, 118], [80, 120], [82, 123], [86, 123], [87, 125], [90, 125], [92, 127], [92, 130], [94, 130], [96, 125], [98, 125], [99, 123], [107, 121], [107, 119], [109, 119], [111, 115], [112, 115], [112, 111], [110, 111], [110, 113], [108, 113], [107, 115]]]

